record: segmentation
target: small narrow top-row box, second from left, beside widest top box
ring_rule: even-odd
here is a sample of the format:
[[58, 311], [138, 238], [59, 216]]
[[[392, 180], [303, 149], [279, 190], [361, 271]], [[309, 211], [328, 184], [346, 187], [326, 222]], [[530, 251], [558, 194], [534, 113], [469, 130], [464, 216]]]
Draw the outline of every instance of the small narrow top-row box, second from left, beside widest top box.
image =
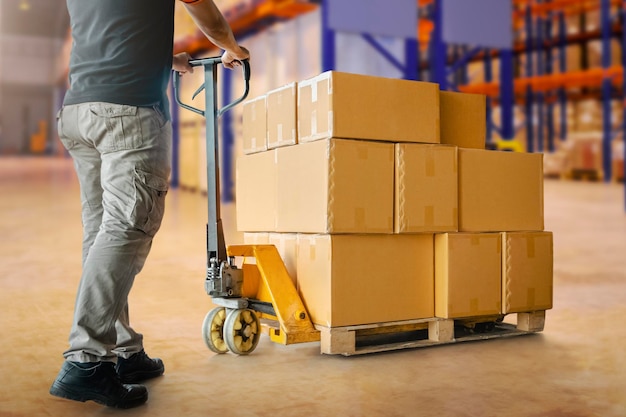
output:
[[293, 82], [267, 93], [267, 147], [295, 145], [298, 84]]

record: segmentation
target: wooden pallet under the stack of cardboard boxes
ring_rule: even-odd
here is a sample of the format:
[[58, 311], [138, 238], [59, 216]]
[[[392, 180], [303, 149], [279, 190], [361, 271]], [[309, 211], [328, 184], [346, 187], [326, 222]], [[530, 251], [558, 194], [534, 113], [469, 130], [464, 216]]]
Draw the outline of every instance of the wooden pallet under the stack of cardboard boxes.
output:
[[460, 320], [431, 318], [316, 328], [321, 333], [323, 354], [352, 356], [533, 334], [543, 330], [545, 311], [517, 313], [517, 325], [501, 319], [501, 316]]

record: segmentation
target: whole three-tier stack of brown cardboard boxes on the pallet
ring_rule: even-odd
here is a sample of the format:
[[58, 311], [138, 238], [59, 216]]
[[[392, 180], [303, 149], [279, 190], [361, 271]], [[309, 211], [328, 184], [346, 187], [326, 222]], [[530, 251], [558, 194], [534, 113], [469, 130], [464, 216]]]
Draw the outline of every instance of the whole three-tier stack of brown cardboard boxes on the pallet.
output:
[[542, 155], [484, 150], [483, 96], [325, 72], [243, 117], [238, 229], [276, 245], [315, 324], [552, 307]]

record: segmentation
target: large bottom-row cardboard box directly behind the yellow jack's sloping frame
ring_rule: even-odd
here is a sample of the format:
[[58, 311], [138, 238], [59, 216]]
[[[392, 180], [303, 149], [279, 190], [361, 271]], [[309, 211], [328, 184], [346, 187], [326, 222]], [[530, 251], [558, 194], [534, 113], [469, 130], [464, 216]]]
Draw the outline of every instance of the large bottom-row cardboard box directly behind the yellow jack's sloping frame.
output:
[[298, 285], [326, 327], [433, 317], [433, 235], [298, 235]]

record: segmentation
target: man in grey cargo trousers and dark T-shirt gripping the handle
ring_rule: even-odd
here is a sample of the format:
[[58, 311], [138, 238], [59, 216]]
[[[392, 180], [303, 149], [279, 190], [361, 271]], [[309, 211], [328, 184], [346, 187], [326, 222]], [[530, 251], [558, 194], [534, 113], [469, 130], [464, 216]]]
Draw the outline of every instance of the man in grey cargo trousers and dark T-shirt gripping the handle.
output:
[[[233, 68], [248, 59], [213, 0], [181, 0]], [[80, 182], [83, 272], [65, 362], [50, 393], [111, 407], [143, 404], [164, 372], [128, 319], [128, 293], [161, 225], [171, 163], [166, 96], [175, 0], [67, 0], [73, 46], [59, 137]], [[117, 361], [117, 363], [116, 363]]]

